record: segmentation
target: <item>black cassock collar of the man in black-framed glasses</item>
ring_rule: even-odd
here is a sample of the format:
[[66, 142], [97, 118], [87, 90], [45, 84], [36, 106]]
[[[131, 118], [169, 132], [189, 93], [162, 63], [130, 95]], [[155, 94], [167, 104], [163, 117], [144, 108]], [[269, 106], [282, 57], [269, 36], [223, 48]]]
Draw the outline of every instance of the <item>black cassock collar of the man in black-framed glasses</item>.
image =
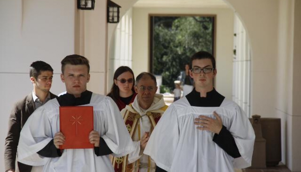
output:
[[196, 88], [193, 88], [192, 92], [186, 95], [186, 99], [191, 106], [219, 107], [225, 99], [214, 88], [212, 91], [207, 92], [206, 97], [201, 97], [200, 94], [200, 92], [196, 91]]

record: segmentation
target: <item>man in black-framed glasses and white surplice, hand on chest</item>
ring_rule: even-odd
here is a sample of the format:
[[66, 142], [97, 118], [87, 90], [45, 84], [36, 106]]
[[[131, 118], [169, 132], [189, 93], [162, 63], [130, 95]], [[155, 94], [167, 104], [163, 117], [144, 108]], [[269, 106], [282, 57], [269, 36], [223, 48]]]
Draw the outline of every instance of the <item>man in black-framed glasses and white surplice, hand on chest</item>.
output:
[[195, 89], [169, 106], [144, 150], [156, 172], [234, 172], [251, 166], [254, 130], [242, 109], [213, 88], [216, 72], [210, 53], [191, 57]]

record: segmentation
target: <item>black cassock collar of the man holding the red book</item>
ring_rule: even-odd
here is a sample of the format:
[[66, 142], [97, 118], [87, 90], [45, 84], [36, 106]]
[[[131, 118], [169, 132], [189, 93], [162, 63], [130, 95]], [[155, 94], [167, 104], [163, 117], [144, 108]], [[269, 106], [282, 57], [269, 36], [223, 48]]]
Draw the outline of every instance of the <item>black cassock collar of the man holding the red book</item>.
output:
[[84, 91], [80, 94], [80, 97], [74, 97], [73, 94], [63, 94], [57, 98], [60, 106], [79, 106], [79, 105], [86, 105], [90, 103], [92, 97], [91, 91]]

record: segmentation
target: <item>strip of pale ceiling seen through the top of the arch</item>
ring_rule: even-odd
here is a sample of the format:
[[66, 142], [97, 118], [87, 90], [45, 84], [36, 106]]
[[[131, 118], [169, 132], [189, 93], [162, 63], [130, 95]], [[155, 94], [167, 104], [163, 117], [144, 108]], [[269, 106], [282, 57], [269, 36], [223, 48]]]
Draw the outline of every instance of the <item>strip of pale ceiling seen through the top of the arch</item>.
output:
[[139, 0], [134, 7], [229, 8], [223, 0]]

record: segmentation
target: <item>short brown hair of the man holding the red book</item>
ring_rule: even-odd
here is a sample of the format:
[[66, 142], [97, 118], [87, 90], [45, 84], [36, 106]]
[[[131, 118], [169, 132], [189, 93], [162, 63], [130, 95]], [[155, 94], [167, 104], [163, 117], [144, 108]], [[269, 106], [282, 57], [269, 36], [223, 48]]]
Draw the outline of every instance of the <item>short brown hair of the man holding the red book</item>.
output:
[[88, 73], [90, 72], [90, 65], [89, 65], [89, 60], [86, 57], [73, 54], [66, 56], [62, 61], [62, 73], [64, 74], [65, 66], [66, 64], [71, 64], [71, 65], [86, 65], [88, 68]]

